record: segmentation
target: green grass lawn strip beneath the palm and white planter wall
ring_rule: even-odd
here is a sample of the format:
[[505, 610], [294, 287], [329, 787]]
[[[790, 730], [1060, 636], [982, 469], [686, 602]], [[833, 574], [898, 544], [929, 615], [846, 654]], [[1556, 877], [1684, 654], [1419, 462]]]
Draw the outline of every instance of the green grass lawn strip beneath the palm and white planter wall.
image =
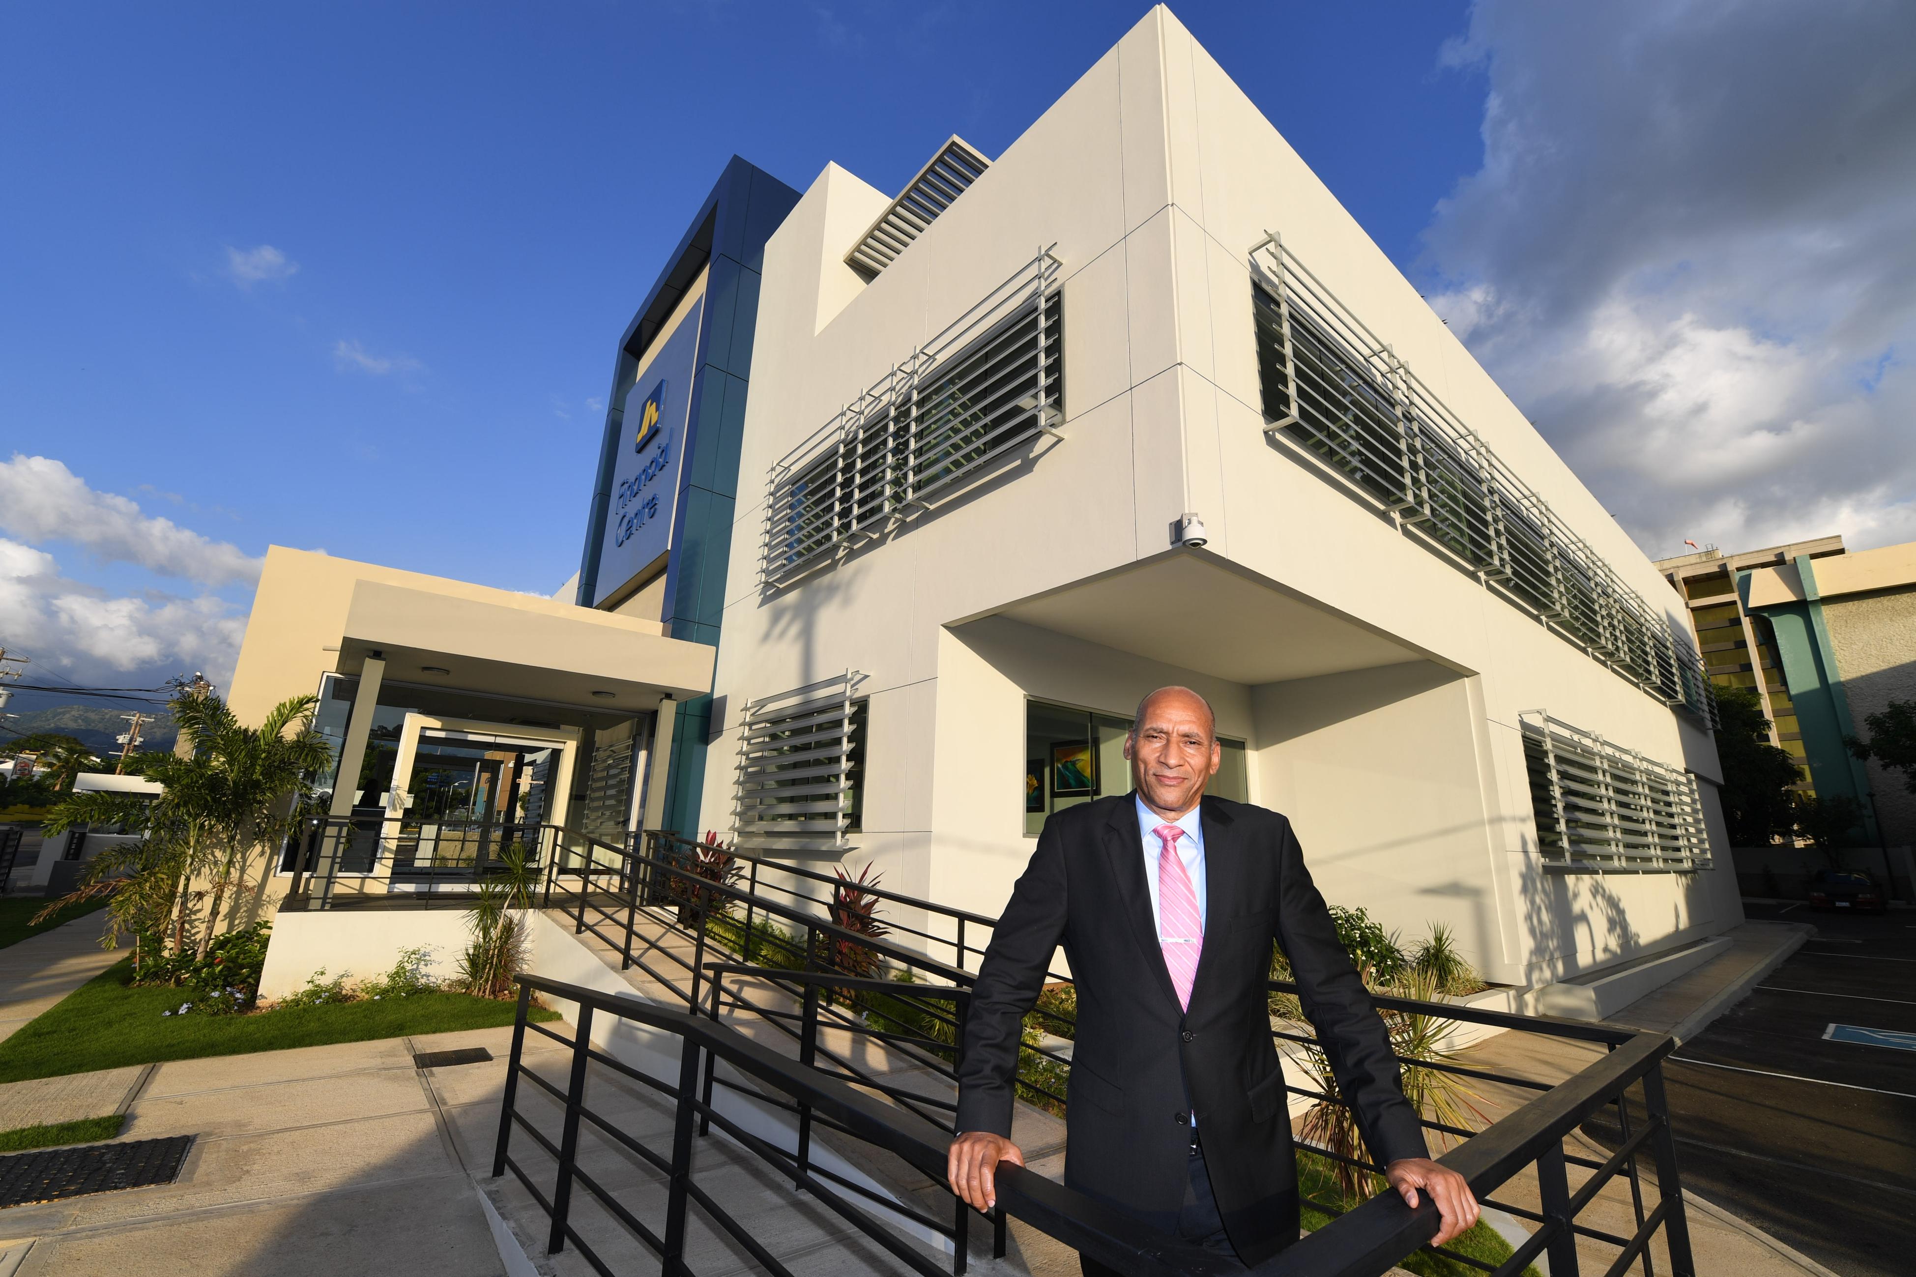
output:
[[[96, 1068], [249, 1055], [333, 1041], [374, 1041], [412, 1033], [512, 1024], [515, 1003], [466, 993], [418, 993], [385, 1001], [257, 1010], [243, 1016], [163, 1016], [188, 989], [138, 987], [132, 959], [100, 972], [52, 1010], [0, 1041], [0, 1081], [86, 1074]], [[535, 1020], [558, 1020], [535, 1010]]]

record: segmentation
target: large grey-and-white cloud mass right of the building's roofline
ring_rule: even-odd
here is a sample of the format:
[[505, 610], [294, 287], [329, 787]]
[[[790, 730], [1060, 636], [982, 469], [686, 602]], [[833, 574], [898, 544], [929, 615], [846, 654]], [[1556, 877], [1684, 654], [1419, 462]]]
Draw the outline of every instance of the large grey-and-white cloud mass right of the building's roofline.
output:
[[1652, 554], [1916, 537], [1916, 6], [1477, 0], [1431, 301]]

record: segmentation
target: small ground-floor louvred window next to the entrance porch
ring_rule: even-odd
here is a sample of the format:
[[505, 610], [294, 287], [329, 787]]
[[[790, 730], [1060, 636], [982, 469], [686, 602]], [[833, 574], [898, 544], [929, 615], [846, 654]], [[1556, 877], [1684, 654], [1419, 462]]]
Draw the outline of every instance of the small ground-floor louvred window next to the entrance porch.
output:
[[835, 855], [862, 828], [866, 702], [847, 671], [745, 706], [738, 740], [738, 846]]

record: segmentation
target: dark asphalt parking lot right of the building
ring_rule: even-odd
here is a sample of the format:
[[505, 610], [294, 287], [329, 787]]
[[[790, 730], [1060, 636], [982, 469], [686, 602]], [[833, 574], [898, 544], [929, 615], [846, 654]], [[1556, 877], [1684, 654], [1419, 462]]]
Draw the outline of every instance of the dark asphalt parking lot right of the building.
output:
[[1745, 913], [1818, 934], [1665, 1066], [1684, 1187], [1843, 1277], [1906, 1277], [1916, 911]]

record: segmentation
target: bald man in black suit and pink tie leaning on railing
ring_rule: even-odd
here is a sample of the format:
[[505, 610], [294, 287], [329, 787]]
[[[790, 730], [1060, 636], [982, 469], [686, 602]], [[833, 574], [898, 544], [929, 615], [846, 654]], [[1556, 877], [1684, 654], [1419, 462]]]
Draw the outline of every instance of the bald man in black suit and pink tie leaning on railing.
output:
[[[1297, 1241], [1284, 1070], [1270, 1041], [1270, 943], [1297, 974], [1364, 1143], [1437, 1242], [1477, 1221], [1464, 1177], [1429, 1160], [1389, 1033], [1311, 884], [1289, 821], [1205, 798], [1211, 706], [1159, 688], [1125, 740], [1136, 794], [1044, 823], [971, 991], [950, 1185], [979, 1210], [1008, 1137], [1019, 1028], [1063, 943], [1077, 980], [1065, 1183], [1245, 1264]], [[1109, 1271], [1081, 1258], [1086, 1277]]]

